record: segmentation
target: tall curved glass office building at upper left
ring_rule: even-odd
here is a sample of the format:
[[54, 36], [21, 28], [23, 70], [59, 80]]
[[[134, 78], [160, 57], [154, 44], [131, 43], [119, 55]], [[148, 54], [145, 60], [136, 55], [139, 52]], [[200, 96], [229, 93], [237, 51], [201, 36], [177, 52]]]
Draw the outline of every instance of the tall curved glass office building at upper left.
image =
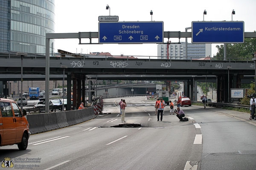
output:
[[[55, 0], [0, 0], [0, 52], [45, 54], [45, 35], [55, 33]], [[50, 42], [54, 51], [54, 40]]]

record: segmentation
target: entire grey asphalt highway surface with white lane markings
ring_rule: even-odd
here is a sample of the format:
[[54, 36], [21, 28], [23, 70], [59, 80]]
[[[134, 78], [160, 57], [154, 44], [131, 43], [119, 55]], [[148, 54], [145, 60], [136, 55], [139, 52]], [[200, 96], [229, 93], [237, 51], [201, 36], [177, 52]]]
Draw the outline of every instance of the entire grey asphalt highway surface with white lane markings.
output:
[[120, 98], [104, 99], [111, 114], [31, 135], [24, 151], [1, 147], [0, 161], [33, 170], [255, 170], [256, 123], [239, 118], [248, 113], [192, 105], [181, 108], [189, 121], [179, 122], [166, 106], [157, 122], [155, 101], [125, 100], [125, 124], [141, 126], [121, 127]]

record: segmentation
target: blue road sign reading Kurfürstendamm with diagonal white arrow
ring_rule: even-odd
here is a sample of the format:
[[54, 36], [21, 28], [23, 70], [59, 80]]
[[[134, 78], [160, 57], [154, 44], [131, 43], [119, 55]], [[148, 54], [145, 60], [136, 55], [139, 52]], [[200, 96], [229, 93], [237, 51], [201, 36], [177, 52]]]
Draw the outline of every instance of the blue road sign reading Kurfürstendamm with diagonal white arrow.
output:
[[192, 43], [244, 43], [244, 21], [193, 21]]

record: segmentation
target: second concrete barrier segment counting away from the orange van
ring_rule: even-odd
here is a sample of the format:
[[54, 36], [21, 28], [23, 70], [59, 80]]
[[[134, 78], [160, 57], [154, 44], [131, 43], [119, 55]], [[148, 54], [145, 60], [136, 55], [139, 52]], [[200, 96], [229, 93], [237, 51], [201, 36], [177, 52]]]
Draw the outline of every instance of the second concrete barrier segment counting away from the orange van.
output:
[[44, 127], [47, 131], [59, 129], [57, 125], [56, 113], [44, 113]]

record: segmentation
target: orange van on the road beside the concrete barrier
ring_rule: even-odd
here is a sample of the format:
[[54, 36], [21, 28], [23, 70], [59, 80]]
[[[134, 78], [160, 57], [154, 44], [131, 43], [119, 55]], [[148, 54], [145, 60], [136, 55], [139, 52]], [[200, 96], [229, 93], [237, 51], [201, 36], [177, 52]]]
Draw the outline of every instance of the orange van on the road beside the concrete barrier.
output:
[[14, 100], [0, 98], [0, 147], [17, 144], [26, 150], [29, 140], [29, 123], [26, 110], [21, 114]]

